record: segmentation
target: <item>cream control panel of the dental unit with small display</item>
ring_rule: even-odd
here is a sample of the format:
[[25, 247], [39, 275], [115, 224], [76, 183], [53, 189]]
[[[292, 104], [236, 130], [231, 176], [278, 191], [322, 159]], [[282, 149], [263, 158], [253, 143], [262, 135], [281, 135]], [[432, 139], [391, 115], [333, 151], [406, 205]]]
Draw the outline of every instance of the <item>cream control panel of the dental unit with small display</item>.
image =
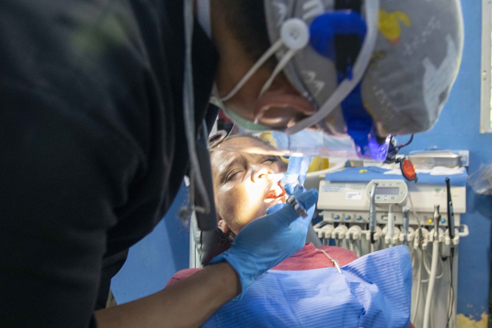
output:
[[[404, 179], [371, 179], [370, 181], [320, 181], [317, 209], [321, 210], [323, 221], [369, 223], [370, 192], [377, 183], [376, 223], [388, 221], [389, 205], [393, 205], [395, 224], [402, 224], [402, 208], [409, 207], [409, 224], [433, 225], [434, 205], [447, 207], [446, 187], [426, 183], [407, 183]], [[444, 183], [444, 178], [442, 179]], [[466, 210], [466, 187], [455, 185], [451, 188], [455, 225], [460, 225], [460, 213]], [[418, 218], [415, 217], [418, 213]], [[447, 226], [447, 214], [442, 213], [439, 225]]]

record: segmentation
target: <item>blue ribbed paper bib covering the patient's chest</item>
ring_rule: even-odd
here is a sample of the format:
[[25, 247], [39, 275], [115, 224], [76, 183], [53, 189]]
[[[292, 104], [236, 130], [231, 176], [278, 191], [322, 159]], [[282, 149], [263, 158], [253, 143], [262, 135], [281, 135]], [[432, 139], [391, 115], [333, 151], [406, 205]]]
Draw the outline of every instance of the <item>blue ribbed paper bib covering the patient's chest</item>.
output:
[[342, 272], [269, 270], [202, 327], [409, 327], [412, 264], [406, 246], [363, 256]]

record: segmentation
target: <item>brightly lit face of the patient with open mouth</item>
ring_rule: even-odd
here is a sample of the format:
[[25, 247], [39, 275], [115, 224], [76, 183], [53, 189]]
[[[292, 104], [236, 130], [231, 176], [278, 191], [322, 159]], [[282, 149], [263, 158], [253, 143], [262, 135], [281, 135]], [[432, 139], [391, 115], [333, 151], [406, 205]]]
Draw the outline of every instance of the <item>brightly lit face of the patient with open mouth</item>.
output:
[[[231, 138], [222, 145], [271, 148], [249, 137]], [[279, 157], [224, 150], [213, 150], [210, 157], [217, 214], [234, 234], [264, 216], [270, 206], [285, 203], [278, 181], [287, 164]]]

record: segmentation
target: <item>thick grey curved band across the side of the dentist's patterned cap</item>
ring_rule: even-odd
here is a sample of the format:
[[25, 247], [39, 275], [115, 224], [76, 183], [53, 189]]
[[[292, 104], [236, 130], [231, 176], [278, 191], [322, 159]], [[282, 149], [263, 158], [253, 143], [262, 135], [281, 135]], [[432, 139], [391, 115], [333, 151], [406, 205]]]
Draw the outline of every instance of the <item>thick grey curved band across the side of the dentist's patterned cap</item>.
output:
[[374, 50], [377, 39], [379, 0], [364, 1], [364, 5], [366, 11], [366, 21], [368, 23], [367, 33], [364, 41], [362, 42], [359, 55], [354, 63], [352, 79], [344, 79], [332, 93], [330, 98], [316, 113], [287, 128], [285, 130], [286, 134], [290, 135], [297, 133], [304, 128], [314, 125], [320, 120], [326, 118], [342, 102], [342, 100], [345, 99], [350, 92], [352, 92], [366, 73], [366, 69], [372, 57], [372, 51]]

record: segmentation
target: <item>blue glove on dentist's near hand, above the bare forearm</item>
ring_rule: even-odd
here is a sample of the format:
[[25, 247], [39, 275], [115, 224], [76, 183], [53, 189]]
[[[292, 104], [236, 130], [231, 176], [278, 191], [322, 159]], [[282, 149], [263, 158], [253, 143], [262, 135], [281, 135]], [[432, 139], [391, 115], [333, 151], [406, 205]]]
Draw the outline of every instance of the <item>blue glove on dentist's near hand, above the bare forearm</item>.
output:
[[234, 300], [241, 299], [260, 274], [303, 248], [318, 192], [305, 190], [296, 199], [307, 209], [307, 217], [300, 216], [290, 204], [278, 204], [268, 211], [270, 214], [248, 223], [231, 247], [210, 261], [227, 261], [238, 273], [242, 289]]

